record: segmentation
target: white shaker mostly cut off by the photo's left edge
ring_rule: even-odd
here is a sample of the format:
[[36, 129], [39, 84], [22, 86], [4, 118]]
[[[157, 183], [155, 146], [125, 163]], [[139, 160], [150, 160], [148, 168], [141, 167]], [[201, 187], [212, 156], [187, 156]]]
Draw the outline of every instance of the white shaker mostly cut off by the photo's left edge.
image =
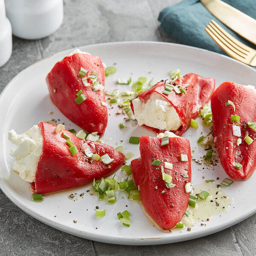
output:
[[12, 26], [6, 17], [4, 0], [0, 0], [0, 67], [12, 55]]

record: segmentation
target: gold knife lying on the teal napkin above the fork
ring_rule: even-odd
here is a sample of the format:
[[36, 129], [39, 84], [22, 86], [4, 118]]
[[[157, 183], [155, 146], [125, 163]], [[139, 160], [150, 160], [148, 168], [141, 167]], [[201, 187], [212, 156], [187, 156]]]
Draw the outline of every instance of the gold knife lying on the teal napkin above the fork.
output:
[[218, 20], [256, 45], [256, 20], [221, 0], [201, 0]]

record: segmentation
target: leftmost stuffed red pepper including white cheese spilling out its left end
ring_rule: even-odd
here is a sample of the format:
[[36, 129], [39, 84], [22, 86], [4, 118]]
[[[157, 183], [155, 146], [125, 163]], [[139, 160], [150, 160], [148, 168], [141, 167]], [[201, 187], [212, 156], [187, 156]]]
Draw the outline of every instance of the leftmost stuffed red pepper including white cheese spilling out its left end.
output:
[[9, 132], [17, 145], [12, 169], [32, 192], [49, 193], [83, 185], [116, 170], [124, 156], [110, 145], [84, 140], [58, 125], [40, 122], [25, 134]]

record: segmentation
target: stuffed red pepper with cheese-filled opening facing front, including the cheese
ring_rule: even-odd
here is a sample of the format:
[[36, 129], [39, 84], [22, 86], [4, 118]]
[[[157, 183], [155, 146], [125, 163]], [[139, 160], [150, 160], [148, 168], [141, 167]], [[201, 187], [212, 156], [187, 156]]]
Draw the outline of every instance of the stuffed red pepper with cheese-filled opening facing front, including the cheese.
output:
[[139, 125], [158, 134], [183, 134], [192, 118], [209, 101], [215, 80], [193, 73], [176, 80], [160, 81], [132, 100], [131, 108]]

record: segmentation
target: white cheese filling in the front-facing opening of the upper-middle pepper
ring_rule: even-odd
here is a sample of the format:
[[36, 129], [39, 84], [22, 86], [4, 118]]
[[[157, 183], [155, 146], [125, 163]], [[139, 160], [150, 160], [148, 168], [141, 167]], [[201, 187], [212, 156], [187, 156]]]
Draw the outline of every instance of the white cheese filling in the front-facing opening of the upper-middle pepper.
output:
[[147, 101], [136, 98], [132, 102], [134, 116], [139, 125], [166, 131], [175, 131], [180, 128], [179, 115], [161, 94], [153, 92]]

